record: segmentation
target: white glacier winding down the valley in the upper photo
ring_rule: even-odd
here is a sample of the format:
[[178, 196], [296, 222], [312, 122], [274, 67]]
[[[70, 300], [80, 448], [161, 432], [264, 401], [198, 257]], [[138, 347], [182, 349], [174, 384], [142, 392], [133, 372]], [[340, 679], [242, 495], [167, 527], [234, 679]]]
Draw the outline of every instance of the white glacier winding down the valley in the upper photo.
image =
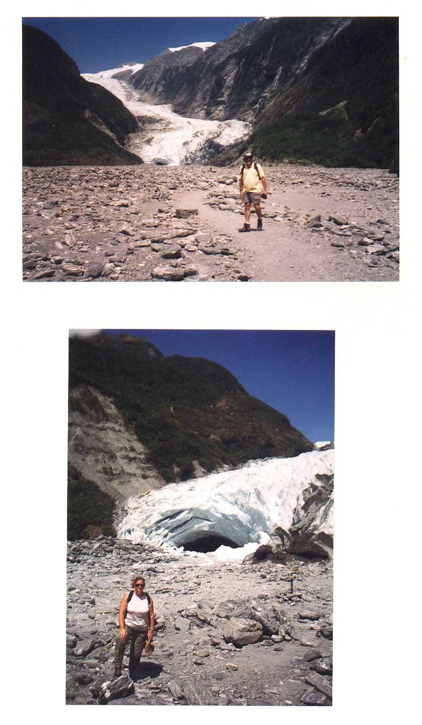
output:
[[[192, 44], [210, 46], [210, 43]], [[246, 121], [185, 118], [174, 113], [170, 105], [144, 103], [139, 99], [136, 90], [125, 80], [113, 78], [115, 74], [129, 70], [133, 75], [142, 67], [142, 64], [123, 65], [111, 70], [81, 75], [90, 83], [98, 83], [107, 88], [107, 91], [117, 96], [138, 120], [147, 119], [145, 128], [131, 133], [125, 144], [125, 149], [138, 154], [144, 162], [169, 166], [183, 165], [191, 162], [195, 154], [200, 157], [201, 149], [207, 141], [228, 146], [245, 138], [251, 132], [252, 127]]]

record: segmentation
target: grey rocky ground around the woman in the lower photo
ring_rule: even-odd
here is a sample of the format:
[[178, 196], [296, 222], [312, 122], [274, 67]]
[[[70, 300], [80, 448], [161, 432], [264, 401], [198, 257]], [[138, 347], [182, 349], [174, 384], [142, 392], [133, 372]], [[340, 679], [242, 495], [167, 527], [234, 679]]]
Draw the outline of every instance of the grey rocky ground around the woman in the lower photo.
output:
[[[212, 564], [107, 537], [69, 542], [67, 703], [331, 705], [331, 562], [251, 559]], [[133, 574], [154, 601], [155, 650], [133, 679], [126, 655], [115, 679], [117, 612]]]

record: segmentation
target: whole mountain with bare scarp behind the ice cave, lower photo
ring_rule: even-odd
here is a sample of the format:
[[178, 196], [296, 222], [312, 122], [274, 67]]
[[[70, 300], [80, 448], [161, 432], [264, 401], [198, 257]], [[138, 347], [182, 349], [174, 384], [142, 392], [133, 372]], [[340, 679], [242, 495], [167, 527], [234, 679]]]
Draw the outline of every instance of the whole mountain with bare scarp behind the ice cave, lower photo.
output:
[[164, 357], [127, 334], [69, 341], [70, 538], [81, 523], [112, 525], [104, 497], [122, 502], [168, 481], [311, 450], [285, 415], [217, 363]]

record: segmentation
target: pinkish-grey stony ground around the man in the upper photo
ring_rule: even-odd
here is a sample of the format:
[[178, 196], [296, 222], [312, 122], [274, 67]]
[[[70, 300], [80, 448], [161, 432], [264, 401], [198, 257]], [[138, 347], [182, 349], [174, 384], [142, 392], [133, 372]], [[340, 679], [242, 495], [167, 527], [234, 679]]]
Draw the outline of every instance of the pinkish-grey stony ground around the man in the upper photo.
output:
[[239, 234], [236, 166], [25, 167], [26, 281], [392, 281], [399, 180], [264, 165], [264, 231]]

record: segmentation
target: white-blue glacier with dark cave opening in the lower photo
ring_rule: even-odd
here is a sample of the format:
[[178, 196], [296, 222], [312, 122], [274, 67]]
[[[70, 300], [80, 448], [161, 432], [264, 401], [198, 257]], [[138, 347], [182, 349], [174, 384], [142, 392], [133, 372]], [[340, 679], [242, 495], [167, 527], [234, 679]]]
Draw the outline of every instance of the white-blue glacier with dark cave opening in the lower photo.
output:
[[[216, 558], [240, 558], [268, 542], [276, 526], [289, 530], [305, 518], [313, 534], [333, 536], [333, 496], [305, 505], [334, 475], [334, 450], [302, 453], [293, 458], [249, 461], [234, 471], [167, 484], [125, 502], [117, 536], [182, 550], [201, 539], [224, 539]], [[316, 497], [318, 500], [318, 497]], [[305, 506], [305, 508], [304, 508]], [[244, 553], [243, 553], [244, 555]]]

